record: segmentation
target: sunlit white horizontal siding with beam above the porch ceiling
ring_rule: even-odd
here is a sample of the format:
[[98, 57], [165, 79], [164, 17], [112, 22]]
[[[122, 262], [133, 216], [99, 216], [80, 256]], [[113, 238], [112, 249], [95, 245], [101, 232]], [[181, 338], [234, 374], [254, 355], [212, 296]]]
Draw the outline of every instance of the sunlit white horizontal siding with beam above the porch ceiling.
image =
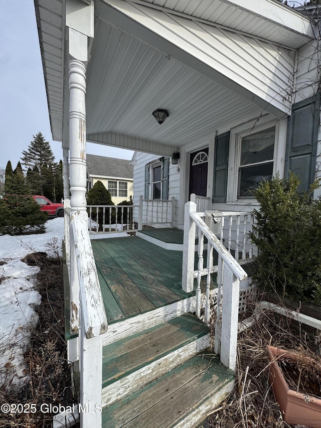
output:
[[138, 4], [104, 1], [112, 7], [100, 8], [99, 2], [100, 17], [123, 32], [271, 113], [290, 112], [293, 52]]

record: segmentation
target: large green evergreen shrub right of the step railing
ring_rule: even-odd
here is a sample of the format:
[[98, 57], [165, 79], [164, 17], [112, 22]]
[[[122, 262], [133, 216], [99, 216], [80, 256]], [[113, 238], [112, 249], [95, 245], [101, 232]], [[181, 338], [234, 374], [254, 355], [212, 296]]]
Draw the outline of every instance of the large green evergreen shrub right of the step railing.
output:
[[260, 204], [249, 234], [259, 249], [253, 279], [280, 297], [321, 303], [321, 201], [299, 194], [300, 181], [290, 174], [263, 181], [253, 192]]

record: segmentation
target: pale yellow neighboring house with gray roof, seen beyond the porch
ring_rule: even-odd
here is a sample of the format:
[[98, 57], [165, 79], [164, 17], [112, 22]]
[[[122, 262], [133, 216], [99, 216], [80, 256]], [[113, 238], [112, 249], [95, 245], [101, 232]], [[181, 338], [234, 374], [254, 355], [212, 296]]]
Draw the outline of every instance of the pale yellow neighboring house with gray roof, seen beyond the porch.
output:
[[125, 159], [87, 155], [87, 189], [99, 180], [109, 191], [115, 205], [133, 195], [133, 167]]

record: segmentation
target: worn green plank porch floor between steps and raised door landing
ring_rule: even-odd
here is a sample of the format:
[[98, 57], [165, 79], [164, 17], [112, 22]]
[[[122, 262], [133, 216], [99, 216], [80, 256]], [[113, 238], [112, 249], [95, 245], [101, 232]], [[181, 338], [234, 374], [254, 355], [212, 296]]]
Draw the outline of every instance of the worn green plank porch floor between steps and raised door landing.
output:
[[108, 323], [193, 296], [182, 290], [182, 252], [136, 236], [91, 241]]

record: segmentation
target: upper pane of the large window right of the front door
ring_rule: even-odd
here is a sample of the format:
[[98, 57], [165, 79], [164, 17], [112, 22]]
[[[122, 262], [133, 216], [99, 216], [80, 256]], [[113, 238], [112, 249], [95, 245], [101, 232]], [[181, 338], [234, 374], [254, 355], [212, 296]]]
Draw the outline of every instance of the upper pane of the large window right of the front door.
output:
[[242, 138], [241, 165], [273, 161], [275, 127]]

